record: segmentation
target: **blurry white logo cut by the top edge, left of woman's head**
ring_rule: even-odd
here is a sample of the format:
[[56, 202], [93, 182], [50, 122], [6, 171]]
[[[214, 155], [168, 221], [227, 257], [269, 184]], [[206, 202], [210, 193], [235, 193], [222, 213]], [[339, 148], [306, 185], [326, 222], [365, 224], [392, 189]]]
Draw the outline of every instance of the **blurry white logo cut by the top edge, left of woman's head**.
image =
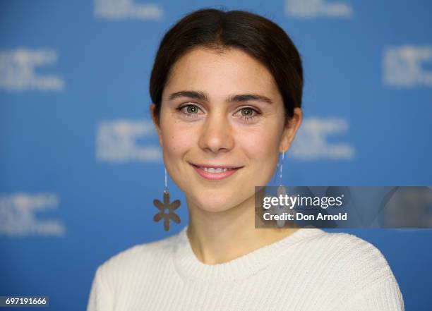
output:
[[164, 11], [156, 4], [136, 4], [133, 0], [95, 0], [95, 15], [108, 20], [160, 20]]

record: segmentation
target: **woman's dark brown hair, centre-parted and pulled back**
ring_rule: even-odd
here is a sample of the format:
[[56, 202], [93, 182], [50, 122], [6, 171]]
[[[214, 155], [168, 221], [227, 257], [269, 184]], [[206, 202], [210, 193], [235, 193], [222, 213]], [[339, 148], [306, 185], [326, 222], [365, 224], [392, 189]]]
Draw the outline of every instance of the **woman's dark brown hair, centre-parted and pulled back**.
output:
[[234, 47], [263, 63], [272, 73], [290, 120], [301, 107], [301, 57], [286, 32], [271, 20], [246, 11], [200, 9], [181, 18], [164, 35], [150, 77], [150, 97], [159, 120], [162, 92], [174, 63], [196, 47], [223, 50]]

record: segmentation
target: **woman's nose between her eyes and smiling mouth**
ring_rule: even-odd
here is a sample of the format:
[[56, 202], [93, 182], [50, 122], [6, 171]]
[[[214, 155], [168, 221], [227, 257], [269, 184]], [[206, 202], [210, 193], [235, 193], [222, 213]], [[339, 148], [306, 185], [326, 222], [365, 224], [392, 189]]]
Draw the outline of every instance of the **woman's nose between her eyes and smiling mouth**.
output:
[[208, 114], [200, 132], [199, 146], [212, 153], [227, 152], [234, 147], [234, 133], [222, 111]]

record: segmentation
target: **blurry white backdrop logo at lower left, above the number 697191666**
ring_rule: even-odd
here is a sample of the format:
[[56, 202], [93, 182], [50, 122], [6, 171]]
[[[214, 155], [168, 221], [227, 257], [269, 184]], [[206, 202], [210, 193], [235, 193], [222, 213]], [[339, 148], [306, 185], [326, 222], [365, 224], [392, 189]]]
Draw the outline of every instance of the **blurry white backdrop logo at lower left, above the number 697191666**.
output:
[[37, 219], [36, 213], [56, 209], [52, 193], [0, 195], [0, 236], [64, 236], [66, 228], [56, 219]]

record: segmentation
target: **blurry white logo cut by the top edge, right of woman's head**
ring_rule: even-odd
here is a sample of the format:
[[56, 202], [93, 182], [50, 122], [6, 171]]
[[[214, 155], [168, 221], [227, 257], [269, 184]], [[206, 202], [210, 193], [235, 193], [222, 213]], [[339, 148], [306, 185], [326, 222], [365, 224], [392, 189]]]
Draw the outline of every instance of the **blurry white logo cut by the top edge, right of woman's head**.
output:
[[352, 6], [344, 1], [325, 0], [285, 0], [285, 13], [298, 18], [314, 18], [327, 16], [331, 18], [349, 18]]

